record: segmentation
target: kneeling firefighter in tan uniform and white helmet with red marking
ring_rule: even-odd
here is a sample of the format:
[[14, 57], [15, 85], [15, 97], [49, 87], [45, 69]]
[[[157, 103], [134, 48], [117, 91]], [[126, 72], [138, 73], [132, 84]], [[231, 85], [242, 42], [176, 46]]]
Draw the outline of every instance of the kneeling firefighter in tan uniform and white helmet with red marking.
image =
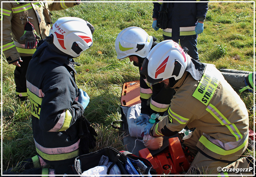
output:
[[141, 73], [150, 84], [162, 82], [176, 90], [168, 116], [148, 124], [145, 135], [172, 136], [183, 128], [195, 128], [184, 140], [196, 154], [188, 174], [217, 174], [218, 167], [235, 162], [246, 150], [246, 106], [214, 65], [190, 58], [176, 42], [165, 40], [150, 51]]

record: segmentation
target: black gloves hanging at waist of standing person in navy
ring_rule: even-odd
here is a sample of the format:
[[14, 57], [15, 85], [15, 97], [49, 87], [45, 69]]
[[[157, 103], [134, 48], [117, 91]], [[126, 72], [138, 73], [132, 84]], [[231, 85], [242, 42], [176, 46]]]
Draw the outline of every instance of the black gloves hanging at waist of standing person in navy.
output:
[[163, 2], [160, 6], [160, 11], [158, 15], [158, 19], [156, 22], [156, 26], [161, 29], [166, 29], [167, 28], [167, 23], [168, 23], [168, 17], [167, 17], [167, 2]]

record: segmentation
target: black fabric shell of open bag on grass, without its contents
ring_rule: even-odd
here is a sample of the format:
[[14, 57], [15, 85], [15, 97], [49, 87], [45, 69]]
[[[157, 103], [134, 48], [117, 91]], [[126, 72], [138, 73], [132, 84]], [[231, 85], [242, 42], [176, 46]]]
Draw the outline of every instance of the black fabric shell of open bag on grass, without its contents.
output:
[[84, 171], [98, 166], [102, 155], [107, 156], [109, 162], [112, 162], [112, 164], [108, 167], [107, 174], [109, 174], [111, 168], [116, 164], [119, 167], [122, 175], [129, 175], [125, 168], [125, 165], [127, 164], [127, 158], [130, 159], [130, 161], [133, 163], [133, 166], [136, 166], [136, 164], [134, 163], [135, 161], [142, 161], [144, 165], [146, 165], [145, 174], [148, 174], [148, 172], [150, 172], [150, 174], [156, 174], [151, 163], [147, 159], [137, 157], [134, 154], [129, 153], [128, 151], [120, 153], [118, 150], [112, 147], [106, 147], [96, 152], [80, 155], [79, 157], [77, 157], [75, 159], [75, 170], [77, 174], [81, 175]]

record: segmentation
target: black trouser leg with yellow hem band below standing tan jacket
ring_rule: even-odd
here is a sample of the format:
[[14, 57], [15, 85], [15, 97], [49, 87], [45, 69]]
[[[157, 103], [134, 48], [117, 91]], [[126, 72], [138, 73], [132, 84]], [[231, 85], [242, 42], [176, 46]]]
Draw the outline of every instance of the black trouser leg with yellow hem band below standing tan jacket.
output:
[[21, 101], [25, 101], [27, 97], [27, 84], [26, 84], [26, 73], [27, 67], [32, 59], [32, 56], [21, 57], [23, 60], [20, 63], [20, 67], [16, 66], [14, 70], [14, 82], [16, 85], [16, 95]]

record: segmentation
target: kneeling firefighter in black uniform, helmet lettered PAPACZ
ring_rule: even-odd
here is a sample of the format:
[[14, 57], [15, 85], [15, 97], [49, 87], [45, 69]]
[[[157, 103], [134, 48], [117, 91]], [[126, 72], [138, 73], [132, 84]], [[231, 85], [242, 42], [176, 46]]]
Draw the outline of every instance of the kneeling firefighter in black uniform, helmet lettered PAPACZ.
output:
[[[40, 41], [27, 68], [36, 153], [64, 174], [74, 159], [95, 147], [97, 133], [82, 116], [89, 96], [75, 82], [74, 60], [93, 45], [94, 27], [77, 17], [59, 18]], [[37, 158], [38, 159], [38, 158]]]

